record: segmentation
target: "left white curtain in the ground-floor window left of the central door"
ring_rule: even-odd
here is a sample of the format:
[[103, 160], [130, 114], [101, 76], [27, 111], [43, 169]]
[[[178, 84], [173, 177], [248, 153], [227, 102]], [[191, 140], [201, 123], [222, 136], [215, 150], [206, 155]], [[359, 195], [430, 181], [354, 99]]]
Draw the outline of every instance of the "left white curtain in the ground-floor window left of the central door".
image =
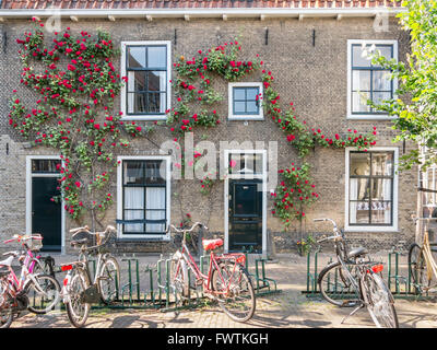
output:
[[[144, 189], [142, 187], [125, 187], [125, 220], [144, 219]], [[125, 231], [142, 232], [141, 223], [127, 224]]]

